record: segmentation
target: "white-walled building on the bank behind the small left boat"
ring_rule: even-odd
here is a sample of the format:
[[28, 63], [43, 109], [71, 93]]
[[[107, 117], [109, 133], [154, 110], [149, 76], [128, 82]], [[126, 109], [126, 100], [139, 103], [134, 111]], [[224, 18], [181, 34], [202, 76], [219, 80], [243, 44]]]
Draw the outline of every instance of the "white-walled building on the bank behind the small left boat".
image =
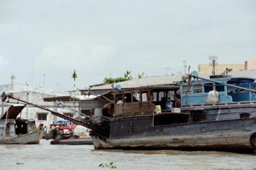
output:
[[[24, 101], [28, 101], [30, 103], [35, 103], [44, 108], [49, 108], [49, 110], [58, 111], [59, 113], [63, 113], [64, 115], [72, 115], [71, 111], [64, 110], [62, 108], [57, 108], [55, 101], [45, 102], [44, 98], [47, 97], [57, 97], [57, 96], [70, 96], [69, 92], [55, 92], [49, 89], [36, 88], [28, 85], [18, 85], [15, 83], [0, 85], [0, 93], [12, 93], [13, 96], [20, 98]], [[72, 101], [70, 101], [68, 106], [72, 106]], [[1, 104], [1, 112], [0, 115], [4, 113], [9, 107], [10, 103]], [[78, 107], [77, 107], [78, 108]], [[55, 117], [49, 111], [42, 110], [40, 108], [36, 108], [34, 106], [26, 105], [26, 108], [22, 110], [22, 112], [18, 115], [20, 118], [33, 119], [36, 120], [36, 126], [39, 124], [55, 124], [61, 118]]]

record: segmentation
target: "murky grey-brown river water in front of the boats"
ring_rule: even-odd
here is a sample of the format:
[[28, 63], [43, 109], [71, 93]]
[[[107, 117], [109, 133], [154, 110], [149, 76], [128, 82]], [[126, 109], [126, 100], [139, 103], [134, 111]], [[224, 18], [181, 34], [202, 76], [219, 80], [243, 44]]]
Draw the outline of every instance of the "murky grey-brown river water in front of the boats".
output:
[[226, 152], [94, 150], [92, 145], [0, 145], [0, 169], [256, 169], [256, 155]]

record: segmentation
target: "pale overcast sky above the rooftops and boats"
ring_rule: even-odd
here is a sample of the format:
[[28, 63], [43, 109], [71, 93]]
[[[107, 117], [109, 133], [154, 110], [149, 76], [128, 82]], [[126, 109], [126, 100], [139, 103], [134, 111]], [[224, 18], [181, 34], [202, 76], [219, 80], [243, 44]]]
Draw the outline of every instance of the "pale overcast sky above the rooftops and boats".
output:
[[[0, 0], [0, 84], [72, 90], [256, 57], [256, 1]], [[58, 85], [56, 85], [56, 83]]]

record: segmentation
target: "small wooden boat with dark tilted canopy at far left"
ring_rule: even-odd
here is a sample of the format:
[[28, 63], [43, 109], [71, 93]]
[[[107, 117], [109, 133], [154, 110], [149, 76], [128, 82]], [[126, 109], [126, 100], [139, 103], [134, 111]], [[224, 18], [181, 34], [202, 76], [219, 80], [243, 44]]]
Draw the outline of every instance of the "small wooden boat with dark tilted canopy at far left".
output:
[[38, 144], [42, 131], [35, 120], [17, 118], [25, 106], [10, 106], [0, 117], [0, 144]]

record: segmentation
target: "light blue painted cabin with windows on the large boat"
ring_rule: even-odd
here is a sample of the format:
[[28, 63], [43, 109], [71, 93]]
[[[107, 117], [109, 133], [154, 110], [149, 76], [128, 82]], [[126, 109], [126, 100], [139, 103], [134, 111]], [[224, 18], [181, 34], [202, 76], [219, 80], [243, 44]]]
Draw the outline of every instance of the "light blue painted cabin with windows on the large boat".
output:
[[[230, 85], [237, 85], [246, 89], [255, 89], [256, 83], [253, 78], [212, 78], [211, 80], [221, 81]], [[237, 89], [220, 83], [212, 83], [207, 80], [193, 80], [177, 82], [180, 85], [180, 98], [182, 106], [195, 106], [210, 104], [205, 101], [209, 92], [216, 90], [219, 94], [218, 103], [239, 103], [245, 101], [256, 101], [255, 92]]]

